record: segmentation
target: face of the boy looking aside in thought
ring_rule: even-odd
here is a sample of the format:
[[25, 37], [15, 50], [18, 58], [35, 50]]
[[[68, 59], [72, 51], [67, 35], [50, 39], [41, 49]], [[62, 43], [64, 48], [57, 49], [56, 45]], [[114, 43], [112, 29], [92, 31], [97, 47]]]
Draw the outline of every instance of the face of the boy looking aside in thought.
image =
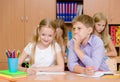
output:
[[85, 40], [91, 34], [90, 27], [87, 28], [83, 23], [76, 22], [73, 24], [73, 38], [79, 41]]

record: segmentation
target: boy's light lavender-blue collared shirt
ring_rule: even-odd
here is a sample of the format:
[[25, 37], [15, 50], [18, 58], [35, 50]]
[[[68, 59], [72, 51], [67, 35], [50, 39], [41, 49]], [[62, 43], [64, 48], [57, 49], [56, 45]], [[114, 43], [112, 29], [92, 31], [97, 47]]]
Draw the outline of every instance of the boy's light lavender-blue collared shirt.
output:
[[74, 52], [74, 42], [70, 40], [68, 43], [68, 68], [73, 71], [76, 64], [86, 67], [93, 66], [96, 70], [108, 71], [108, 66], [105, 63], [105, 48], [103, 41], [96, 35], [91, 35], [86, 45], [80, 46], [84, 53], [84, 57], [80, 60]]

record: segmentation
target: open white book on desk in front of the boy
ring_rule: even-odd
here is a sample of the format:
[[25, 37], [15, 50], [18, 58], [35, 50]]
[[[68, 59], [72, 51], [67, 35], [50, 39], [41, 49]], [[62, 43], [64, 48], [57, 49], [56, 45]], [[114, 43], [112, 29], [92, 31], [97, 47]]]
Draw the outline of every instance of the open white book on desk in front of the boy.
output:
[[114, 73], [111, 71], [97, 71], [91, 76], [86, 74], [77, 74], [77, 75], [82, 77], [101, 77], [103, 75], [114, 75]]

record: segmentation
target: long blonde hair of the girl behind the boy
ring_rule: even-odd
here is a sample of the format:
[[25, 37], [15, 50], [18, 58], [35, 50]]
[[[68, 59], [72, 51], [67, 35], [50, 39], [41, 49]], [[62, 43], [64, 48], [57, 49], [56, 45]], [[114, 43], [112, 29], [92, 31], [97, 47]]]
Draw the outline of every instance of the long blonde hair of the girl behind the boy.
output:
[[[104, 30], [101, 32], [101, 39], [104, 42], [104, 46], [105, 48], [108, 48], [108, 42], [109, 42], [109, 33], [108, 33], [108, 21], [107, 21], [107, 17], [105, 15], [103, 15], [103, 13], [96, 13], [93, 16], [94, 22], [100, 22], [101, 20], [106, 22], [105, 28]], [[95, 31], [95, 27], [94, 27], [94, 31]]]

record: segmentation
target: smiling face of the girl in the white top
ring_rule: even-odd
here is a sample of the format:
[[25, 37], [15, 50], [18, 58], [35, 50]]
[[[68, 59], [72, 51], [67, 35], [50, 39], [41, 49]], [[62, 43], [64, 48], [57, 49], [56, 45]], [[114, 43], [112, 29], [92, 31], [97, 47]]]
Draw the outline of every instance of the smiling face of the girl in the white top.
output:
[[40, 42], [44, 46], [49, 46], [49, 44], [51, 44], [51, 42], [53, 41], [54, 36], [55, 36], [55, 31], [53, 28], [48, 28], [44, 26], [39, 31]]

